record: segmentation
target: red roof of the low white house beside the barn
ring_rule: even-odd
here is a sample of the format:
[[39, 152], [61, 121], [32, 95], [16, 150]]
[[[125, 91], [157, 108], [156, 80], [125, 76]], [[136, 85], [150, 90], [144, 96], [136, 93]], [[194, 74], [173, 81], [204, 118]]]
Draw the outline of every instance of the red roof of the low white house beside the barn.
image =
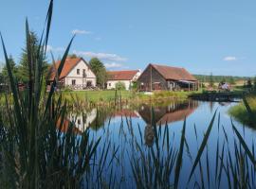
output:
[[123, 70], [107, 72], [109, 80], [132, 80], [138, 73], [138, 70]]

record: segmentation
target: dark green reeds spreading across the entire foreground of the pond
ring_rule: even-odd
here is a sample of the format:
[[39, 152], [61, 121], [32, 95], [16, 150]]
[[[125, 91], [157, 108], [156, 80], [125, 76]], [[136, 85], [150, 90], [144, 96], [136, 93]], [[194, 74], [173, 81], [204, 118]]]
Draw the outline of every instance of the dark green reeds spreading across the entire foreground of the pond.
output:
[[[46, 56], [52, 11], [53, 0], [38, 47], [29, 43], [26, 22], [30, 79], [24, 92], [19, 91], [12, 76], [1, 36], [11, 87], [11, 94], [5, 95], [5, 106], [0, 113], [1, 187], [255, 188], [255, 142], [248, 143], [244, 129], [236, 127], [231, 119], [230, 137], [217, 110], [203, 133], [196, 124], [193, 133], [188, 133], [186, 118], [180, 132], [172, 131], [167, 123], [156, 125], [154, 110], [152, 125], [146, 127], [136, 125], [129, 116], [121, 116], [118, 127], [113, 127], [114, 118], [107, 116], [103, 128], [93, 130], [89, 127], [82, 132], [75, 127], [76, 117], [66, 122], [69, 113], [82, 112], [85, 120], [86, 112], [76, 96], [70, 104], [62, 94], [55, 94], [58, 78], [46, 93], [42, 62]], [[73, 38], [56, 76], [62, 72], [72, 42]], [[122, 102], [121, 95], [116, 93], [115, 108], [119, 108], [119, 102]], [[244, 103], [250, 122], [255, 124], [246, 99]], [[90, 108], [87, 103], [86, 109]], [[95, 127], [101, 123], [99, 116]], [[217, 127], [218, 137], [214, 139], [216, 145], [210, 146], [214, 127]]]

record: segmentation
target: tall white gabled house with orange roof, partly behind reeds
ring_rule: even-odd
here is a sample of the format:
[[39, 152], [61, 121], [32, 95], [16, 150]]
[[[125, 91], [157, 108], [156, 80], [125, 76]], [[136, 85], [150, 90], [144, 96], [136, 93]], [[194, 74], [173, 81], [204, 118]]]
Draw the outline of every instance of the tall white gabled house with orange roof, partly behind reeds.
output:
[[[61, 61], [57, 61], [55, 66], [51, 67], [49, 81], [53, 81], [56, 77], [60, 63]], [[96, 76], [82, 58], [67, 58], [59, 76], [59, 83], [61, 86], [70, 86], [73, 89], [91, 88], [96, 86]]]

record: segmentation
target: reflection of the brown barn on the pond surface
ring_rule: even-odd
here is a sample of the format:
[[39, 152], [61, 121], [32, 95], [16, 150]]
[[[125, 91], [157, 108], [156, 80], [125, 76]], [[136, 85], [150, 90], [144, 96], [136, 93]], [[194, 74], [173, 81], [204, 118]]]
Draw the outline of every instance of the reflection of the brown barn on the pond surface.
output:
[[156, 125], [172, 123], [184, 120], [185, 116], [188, 117], [198, 107], [198, 102], [188, 101], [185, 103], [173, 103], [168, 107], [155, 107], [152, 108], [148, 105], [142, 105], [138, 111], [142, 119], [148, 124], [152, 125], [152, 116], [155, 115]]

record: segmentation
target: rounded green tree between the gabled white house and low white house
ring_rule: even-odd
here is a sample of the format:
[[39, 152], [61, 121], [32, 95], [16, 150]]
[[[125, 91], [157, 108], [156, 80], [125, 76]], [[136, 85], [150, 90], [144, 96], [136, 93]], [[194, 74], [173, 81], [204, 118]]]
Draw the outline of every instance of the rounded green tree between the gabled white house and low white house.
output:
[[107, 73], [106, 73], [106, 68], [104, 64], [98, 58], [92, 58], [89, 61], [89, 65], [92, 71], [94, 72], [94, 74], [96, 75], [97, 85], [103, 88], [107, 79]]

